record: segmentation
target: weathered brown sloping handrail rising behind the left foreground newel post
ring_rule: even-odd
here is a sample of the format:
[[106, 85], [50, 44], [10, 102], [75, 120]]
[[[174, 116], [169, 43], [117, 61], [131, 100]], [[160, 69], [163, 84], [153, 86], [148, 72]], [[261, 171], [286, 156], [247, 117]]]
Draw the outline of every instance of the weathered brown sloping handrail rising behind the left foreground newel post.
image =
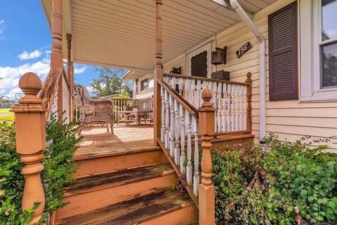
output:
[[42, 105], [46, 107], [45, 119], [48, 120], [51, 114], [51, 107], [56, 95], [56, 90], [58, 90], [58, 82], [62, 76], [62, 69], [51, 68], [49, 71], [46, 81], [44, 81], [44, 86], [39, 92], [39, 98], [42, 100]]

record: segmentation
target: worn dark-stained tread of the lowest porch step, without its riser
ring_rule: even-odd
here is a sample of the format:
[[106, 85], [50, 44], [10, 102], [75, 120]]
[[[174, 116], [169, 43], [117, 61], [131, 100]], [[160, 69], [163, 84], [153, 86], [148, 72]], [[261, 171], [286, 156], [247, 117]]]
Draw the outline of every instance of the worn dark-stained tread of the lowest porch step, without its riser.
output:
[[59, 221], [59, 224], [134, 225], [192, 204], [190, 199], [178, 196], [173, 189], [160, 189], [141, 198], [109, 205], [99, 210], [63, 219]]

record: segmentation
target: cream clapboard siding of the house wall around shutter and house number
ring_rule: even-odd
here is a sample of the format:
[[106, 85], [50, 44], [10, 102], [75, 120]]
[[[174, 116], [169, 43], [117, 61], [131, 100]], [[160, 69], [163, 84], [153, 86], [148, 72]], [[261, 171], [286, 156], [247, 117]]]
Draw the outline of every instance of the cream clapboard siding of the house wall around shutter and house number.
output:
[[[267, 15], [277, 11], [293, 0], [277, 1], [254, 15], [253, 22], [267, 40]], [[247, 41], [253, 48], [241, 58], [237, 58], [236, 51]], [[255, 36], [243, 23], [216, 35], [216, 46], [227, 46], [227, 64], [217, 66], [217, 70], [230, 71], [230, 80], [244, 82], [246, 74], [252, 73], [252, 118], [253, 135], [256, 141], [259, 135], [259, 44]], [[267, 45], [268, 46], [268, 45]], [[268, 52], [268, 47], [266, 48]], [[164, 66], [168, 70], [171, 67], [182, 67], [185, 73], [185, 55], [177, 57]], [[267, 132], [273, 132], [280, 139], [295, 141], [303, 135], [310, 135], [312, 139], [319, 139], [337, 135], [337, 102], [298, 102], [298, 100], [269, 101], [268, 57], [266, 62], [267, 80]], [[337, 152], [337, 139], [331, 139], [329, 146], [331, 151]]]

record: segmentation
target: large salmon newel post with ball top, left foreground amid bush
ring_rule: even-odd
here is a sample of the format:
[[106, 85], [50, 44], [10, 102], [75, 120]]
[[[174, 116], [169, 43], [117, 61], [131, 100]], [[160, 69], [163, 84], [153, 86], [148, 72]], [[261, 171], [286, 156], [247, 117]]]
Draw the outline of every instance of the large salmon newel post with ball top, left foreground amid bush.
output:
[[21, 173], [25, 176], [25, 189], [22, 196], [22, 211], [40, 203], [30, 224], [37, 223], [44, 212], [44, 187], [41, 182], [41, 164], [46, 148], [46, 108], [37, 94], [42, 88], [39, 77], [34, 73], [24, 74], [19, 87], [25, 94], [13, 107], [15, 112], [16, 151], [24, 164]]

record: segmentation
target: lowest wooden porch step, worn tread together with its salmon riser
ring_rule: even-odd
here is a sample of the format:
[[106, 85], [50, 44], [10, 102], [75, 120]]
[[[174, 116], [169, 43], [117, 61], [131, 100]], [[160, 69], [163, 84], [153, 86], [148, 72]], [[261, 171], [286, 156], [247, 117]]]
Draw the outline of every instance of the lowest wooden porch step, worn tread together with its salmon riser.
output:
[[103, 207], [86, 214], [62, 219], [66, 225], [187, 225], [197, 219], [197, 209], [191, 200], [175, 190], [159, 189], [140, 198]]

